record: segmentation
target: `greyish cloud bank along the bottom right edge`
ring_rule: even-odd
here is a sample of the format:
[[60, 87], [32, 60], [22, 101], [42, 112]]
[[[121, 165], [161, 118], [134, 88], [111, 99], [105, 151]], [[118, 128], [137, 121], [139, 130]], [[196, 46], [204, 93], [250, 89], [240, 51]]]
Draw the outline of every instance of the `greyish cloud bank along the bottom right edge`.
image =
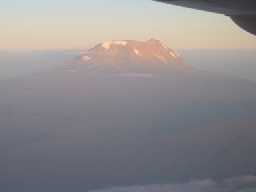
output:
[[256, 192], [256, 177], [253, 175], [229, 178], [217, 183], [211, 178], [191, 180], [188, 183], [166, 183], [134, 186], [118, 186], [88, 192]]

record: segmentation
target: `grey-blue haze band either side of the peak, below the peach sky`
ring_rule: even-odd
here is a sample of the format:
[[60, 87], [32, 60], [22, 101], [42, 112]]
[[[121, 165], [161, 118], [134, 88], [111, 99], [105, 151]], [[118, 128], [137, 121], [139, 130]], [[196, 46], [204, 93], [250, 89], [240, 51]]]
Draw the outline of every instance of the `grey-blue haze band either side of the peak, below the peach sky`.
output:
[[[163, 42], [164, 43], [164, 42]], [[47, 70], [87, 50], [0, 51], [0, 80]], [[189, 66], [256, 82], [256, 50], [174, 50]], [[246, 60], [244, 60], [246, 58]]]

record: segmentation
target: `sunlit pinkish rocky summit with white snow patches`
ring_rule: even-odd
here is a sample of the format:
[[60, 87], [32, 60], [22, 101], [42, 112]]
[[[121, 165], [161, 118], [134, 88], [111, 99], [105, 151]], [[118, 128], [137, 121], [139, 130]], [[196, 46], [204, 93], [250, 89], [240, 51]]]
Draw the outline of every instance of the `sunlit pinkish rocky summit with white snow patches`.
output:
[[188, 70], [182, 57], [159, 40], [113, 40], [100, 43], [58, 68], [110, 73], [168, 73]]

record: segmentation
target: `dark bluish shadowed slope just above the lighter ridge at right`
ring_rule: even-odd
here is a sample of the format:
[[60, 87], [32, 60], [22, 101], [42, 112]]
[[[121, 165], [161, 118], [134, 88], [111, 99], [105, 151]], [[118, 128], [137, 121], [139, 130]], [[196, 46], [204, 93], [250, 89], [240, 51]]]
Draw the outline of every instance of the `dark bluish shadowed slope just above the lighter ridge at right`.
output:
[[[213, 116], [214, 114], [214, 116]], [[256, 119], [256, 101], [240, 103], [199, 103], [166, 110], [152, 118], [150, 134], [170, 134], [225, 121]]]

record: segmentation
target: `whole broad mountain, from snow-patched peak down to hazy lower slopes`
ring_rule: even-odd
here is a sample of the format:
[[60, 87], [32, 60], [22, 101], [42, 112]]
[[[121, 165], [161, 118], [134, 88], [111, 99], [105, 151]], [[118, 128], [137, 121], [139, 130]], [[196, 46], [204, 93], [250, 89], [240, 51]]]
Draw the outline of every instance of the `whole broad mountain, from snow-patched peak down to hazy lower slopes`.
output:
[[0, 82], [3, 192], [256, 175], [256, 83], [158, 40], [110, 41]]

